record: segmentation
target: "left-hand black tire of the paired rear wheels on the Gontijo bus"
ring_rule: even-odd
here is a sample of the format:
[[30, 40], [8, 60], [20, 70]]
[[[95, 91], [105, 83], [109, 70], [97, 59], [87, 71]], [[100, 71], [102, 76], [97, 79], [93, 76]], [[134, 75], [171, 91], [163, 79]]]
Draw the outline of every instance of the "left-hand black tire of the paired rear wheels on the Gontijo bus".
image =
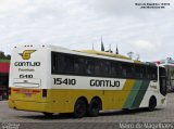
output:
[[73, 116], [75, 118], [82, 118], [86, 115], [86, 111], [87, 111], [86, 102], [83, 99], [79, 99], [76, 101], [74, 105]]

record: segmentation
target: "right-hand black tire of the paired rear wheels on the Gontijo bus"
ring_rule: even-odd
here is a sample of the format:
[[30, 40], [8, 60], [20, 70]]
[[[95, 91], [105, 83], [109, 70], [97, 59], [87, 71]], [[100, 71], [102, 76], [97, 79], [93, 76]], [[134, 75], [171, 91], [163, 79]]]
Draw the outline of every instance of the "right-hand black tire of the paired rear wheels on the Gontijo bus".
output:
[[101, 106], [101, 103], [98, 99], [91, 100], [88, 106], [88, 112], [87, 112], [88, 116], [92, 116], [92, 117], [98, 116], [100, 106]]

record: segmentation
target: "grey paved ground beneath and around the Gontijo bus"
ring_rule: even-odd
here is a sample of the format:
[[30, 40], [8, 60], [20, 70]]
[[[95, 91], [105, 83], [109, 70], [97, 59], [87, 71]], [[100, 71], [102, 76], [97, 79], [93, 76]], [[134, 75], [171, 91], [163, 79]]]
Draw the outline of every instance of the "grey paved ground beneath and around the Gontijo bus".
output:
[[[164, 124], [174, 122], [174, 93], [167, 94], [167, 104], [165, 107], [157, 108], [153, 112], [147, 112], [145, 108], [125, 111], [101, 112], [98, 117], [73, 118], [71, 114], [55, 114], [52, 117], [46, 117], [41, 113], [14, 111], [8, 107], [8, 101], [0, 101], [0, 128], [7, 129], [9, 126], [13, 129], [23, 128], [140, 128], [145, 125], [135, 124]], [[129, 125], [134, 124], [134, 125]], [[18, 125], [20, 126], [18, 126]], [[122, 127], [122, 124], [125, 127]], [[157, 125], [159, 127], [159, 125]], [[170, 127], [174, 128], [174, 125]], [[167, 128], [170, 128], [167, 127]]]

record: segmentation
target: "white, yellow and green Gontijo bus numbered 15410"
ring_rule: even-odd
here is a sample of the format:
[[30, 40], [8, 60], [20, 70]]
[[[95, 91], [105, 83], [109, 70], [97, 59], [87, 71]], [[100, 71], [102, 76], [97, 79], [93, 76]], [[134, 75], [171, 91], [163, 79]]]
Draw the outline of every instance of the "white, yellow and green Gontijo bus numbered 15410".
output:
[[98, 116], [100, 111], [153, 111], [166, 104], [164, 67], [109, 52], [54, 46], [16, 47], [10, 66], [9, 107], [51, 116]]

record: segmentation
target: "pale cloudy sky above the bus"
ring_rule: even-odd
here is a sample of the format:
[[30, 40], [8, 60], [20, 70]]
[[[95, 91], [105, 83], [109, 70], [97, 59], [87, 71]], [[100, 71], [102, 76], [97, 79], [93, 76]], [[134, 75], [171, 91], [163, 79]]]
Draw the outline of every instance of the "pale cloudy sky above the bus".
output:
[[[140, 9], [135, 3], [170, 3]], [[174, 59], [174, 0], [0, 0], [0, 50], [53, 44], [72, 50], [109, 46], [141, 61]]]

